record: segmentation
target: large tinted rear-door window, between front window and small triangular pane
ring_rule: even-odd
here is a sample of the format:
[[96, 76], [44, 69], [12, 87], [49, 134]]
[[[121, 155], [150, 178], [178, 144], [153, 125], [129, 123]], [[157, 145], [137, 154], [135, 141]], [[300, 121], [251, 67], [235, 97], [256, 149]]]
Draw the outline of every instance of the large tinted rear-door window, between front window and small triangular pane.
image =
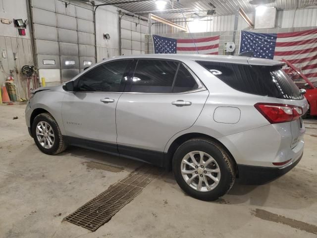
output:
[[138, 60], [131, 92], [171, 93], [178, 62], [166, 60]]

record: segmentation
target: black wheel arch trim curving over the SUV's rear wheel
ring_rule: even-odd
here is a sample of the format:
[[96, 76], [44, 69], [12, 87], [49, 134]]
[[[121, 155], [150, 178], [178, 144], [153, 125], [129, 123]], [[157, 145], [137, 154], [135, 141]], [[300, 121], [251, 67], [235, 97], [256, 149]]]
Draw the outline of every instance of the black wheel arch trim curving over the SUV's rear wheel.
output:
[[237, 166], [237, 162], [234, 159], [233, 155], [230, 153], [230, 151], [227, 149], [227, 147], [221, 143], [219, 140], [217, 140], [216, 138], [207, 135], [207, 134], [203, 134], [203, 133], [186, 133], [183, 135], [180, 135], [179, 137], [177, 137], [168, 147], [166, 158], [164, 158], [164, 167], [167, 170], [171, 170], [172, 168], [172, 160], [173, 160], [173, 155], [176, 152], [177, 148], [184, 143], [185, 141], [188, 141], [190, 139], [195, 139], [195, 138], [202, 138], [202, 139], [206, 139], [206, 140], [210, 140], [212, 142], [215, 142], [217, 144], [219, 144], [227, 153], [228, 155], [231, 157], [232, 162], [234, 163], [234, 168], [236, 170], [236, 175], [238, 177], [238, 166]]

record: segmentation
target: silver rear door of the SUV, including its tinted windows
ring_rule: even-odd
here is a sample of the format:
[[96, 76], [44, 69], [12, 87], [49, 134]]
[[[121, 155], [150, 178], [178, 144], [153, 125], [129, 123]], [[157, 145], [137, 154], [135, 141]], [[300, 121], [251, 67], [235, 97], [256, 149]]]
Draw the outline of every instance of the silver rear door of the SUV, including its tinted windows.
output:
[[194, 124], [209, 95], [181, 62], [139, 59], [116, 109], [119, 153], [156, 165], [167, 141]]

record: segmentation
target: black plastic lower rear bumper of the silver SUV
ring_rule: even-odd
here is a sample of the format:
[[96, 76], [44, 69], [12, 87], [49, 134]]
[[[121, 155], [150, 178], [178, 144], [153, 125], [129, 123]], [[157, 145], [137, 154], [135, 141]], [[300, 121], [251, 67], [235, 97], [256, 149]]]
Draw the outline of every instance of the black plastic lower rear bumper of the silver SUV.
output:
[[239, 165], [238, 173], [239, 178], [238, 183], [242, 184], [253, 184], [261, 185], [270, 182], [274, 179], [285, 175], [291, 169], [293, 169], [302, 159], [303, 152], [297, 160], [284, 168], [272, 168], [272, 167], [262, 167], [262, 166], [250, 166], [250, 165]]

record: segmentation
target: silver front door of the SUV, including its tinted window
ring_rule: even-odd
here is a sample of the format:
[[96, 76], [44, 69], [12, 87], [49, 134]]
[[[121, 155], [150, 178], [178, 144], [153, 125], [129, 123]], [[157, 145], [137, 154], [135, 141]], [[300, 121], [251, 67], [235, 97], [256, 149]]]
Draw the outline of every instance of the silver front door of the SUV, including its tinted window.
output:
[[106, 142], [109, 152], [117, 152], [115, 108], [124, 90], [132, 60], [113, 60], [89, 69], [74, 81], [75, 92], [66, 92], [62, 119], [66, 136], [76, 144], [78, 139]]

